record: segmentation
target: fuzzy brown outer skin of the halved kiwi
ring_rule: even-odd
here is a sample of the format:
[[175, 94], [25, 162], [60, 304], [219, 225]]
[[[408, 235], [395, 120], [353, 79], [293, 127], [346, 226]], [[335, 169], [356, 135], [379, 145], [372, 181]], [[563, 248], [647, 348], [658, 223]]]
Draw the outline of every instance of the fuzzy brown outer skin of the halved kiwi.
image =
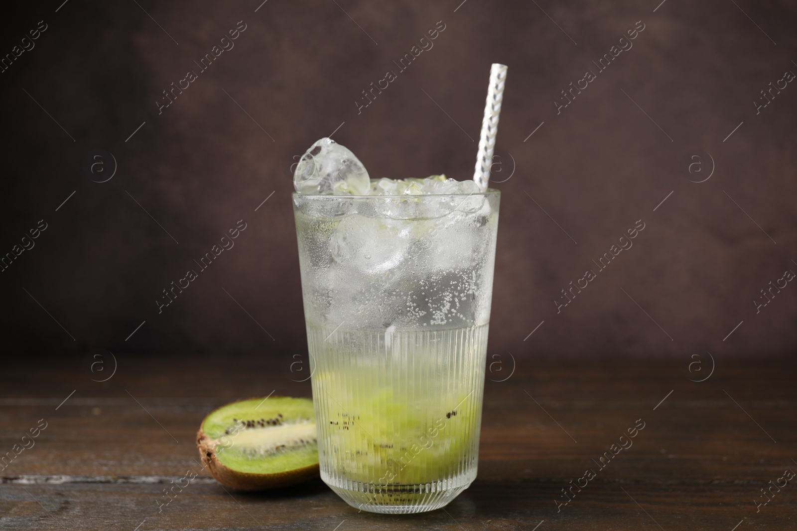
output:
[[[212, 414], [211, 412], [208, 416]], [[205, 420], [207, 420], [207, 417], [205, 417]], [[309, 467], [277, 472], [276, 474], [253, 474], [252, 472], [239, 472], [226, 467], [216, 458], [214, 448], [210, 444], [210, 438], [202, 431], [205, 426], [205, 420], [202, 420], [202, 425], [197, 431], [199, 457], [202, 459], [202, 467], [205, 467], [210, 472], [210, 475], [224, 486], [229, 486], [234, 490], [277, 489], [279, 487], [297, 485], [312, 478], [318, 478], [320, 475], [318, 463]]]

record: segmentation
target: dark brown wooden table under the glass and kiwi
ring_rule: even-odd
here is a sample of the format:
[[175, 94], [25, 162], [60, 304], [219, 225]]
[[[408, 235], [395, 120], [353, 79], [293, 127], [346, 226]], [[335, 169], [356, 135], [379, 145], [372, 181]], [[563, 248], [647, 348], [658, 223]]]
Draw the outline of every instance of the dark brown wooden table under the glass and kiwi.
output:
[[[493, 358], [477, 480], [445, 510], [399, 516], [358, 512], [320, 479], [247, 494], [202, 470], [206, 413], [272, 391], [310, 396], [292, 381], [306, 376], [290, 370], [300, 357], [116, 356], [104, 382], [92, 378], [111, 374], [109, 356], [95, 373], [86, 360], [6, 357], [0, 452], [46, 428], [0, 471], [2, 529], [797, 529], [797, 478], [754, 505], [797, 472], [794, 359], [717, 359], [695, 382], [709, 359], [523, 357], [497, 381], [512, 360]], [[638, 419], [632, 446], [599, 467]], [[595, 478], [558, 512], [587, 469]], [[198, 477], [159, 512], [189, 470]]]

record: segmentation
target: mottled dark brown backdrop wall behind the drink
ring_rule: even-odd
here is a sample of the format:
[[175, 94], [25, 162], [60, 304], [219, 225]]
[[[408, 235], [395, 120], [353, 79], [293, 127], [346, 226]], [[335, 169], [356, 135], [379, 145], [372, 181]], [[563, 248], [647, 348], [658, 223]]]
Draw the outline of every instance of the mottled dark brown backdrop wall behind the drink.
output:
[[[491, 352], [794, 353], [797, 286], [760, 314], [752, 303], [797, 272], [797, 87], [759, 115], [752, 103], [797, 72], [794, 2], [259, 3], [69, 0], [56, 12], [57, 0], [6, 12], [2, 54], [49, 26], [0, 73], [0, 252], [49, 225], [0, 273], [7, 359], [303, 351], [293, 157], [343, 123], [334, 138], [371, 177], [469, 178], [492, 62], [509, 66], [496, 179], [514, 173], [497, 184]], [[163, 89], [241, 20], [234, 49], [159, 115]], [[434, 48], [358, 115], [361, 91], [441, 20]], [[633, 48], [557, 115], [560, 91], [640, 20]], [[108, 182], [84, 174], [96, 149], [118, 163]], [[716, 165], [705, 182], [679, 169], [693, 150]], [[158, 314], [162, 290], [240, 219], [235, 247]], [[634, 247], [557, 314], [559, 291], [637, 220]]]

